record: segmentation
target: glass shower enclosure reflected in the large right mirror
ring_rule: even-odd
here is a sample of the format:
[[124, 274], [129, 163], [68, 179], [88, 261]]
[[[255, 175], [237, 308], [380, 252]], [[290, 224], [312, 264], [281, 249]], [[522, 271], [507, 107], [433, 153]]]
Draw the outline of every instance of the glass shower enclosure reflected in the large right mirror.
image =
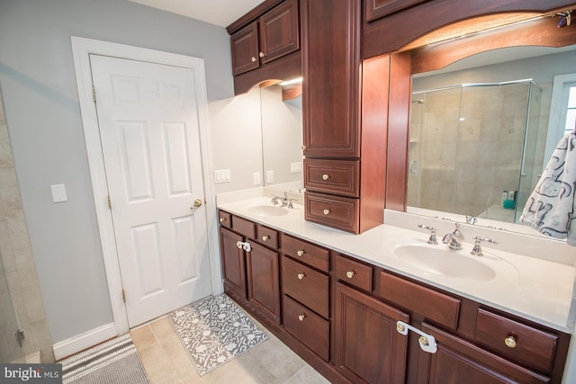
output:
[[531, 80], [412, 94], [408, 205], [516, 222], [542, 172], [541, 97]]

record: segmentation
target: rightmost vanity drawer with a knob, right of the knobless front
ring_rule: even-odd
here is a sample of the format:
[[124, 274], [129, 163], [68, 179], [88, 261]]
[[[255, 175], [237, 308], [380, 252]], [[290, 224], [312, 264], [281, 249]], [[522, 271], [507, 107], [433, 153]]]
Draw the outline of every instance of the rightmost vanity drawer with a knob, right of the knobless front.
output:
[[558, 337], [484, 309], [478, 309], [476, 341], [538, 371], [552, 369]]

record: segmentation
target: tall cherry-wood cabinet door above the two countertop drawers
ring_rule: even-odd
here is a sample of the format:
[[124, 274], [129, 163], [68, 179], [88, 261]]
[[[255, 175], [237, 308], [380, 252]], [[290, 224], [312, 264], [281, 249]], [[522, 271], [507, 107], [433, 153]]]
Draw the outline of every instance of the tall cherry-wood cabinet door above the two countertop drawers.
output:
[[361, 0], [304, 2], [304, 155], [359, 157]]

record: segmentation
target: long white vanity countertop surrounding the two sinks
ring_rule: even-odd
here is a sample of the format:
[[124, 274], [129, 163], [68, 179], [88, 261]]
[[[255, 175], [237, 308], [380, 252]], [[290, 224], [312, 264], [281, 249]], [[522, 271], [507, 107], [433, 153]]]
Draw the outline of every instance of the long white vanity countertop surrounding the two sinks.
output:
[[[234, 201], [241, 199], [240, 201]], [[490, 266], [495, 277], [484, 281], [444, 276], [419, 269], [395, 255], [402, 245], [418, 245], [446, 249], [439, 235], [437, 246], [426, 243], [428, 234], [417, 230], [383, 224], [361, 235], [354, 235], [304, 220], [302, 205], [296, 204], [284, 216], [255, 216], [248, 208], [255, 205], [271, 205], [270, 198], [253, 197], [249, 193], [235, 193], [233, 197], [219, 196], [220, 210], [251, 219], [286, 234], [356, 257], [386, 270], [422, 281], [440, 289], [453, 292], [493, 308], [526, 317], [544, 326], [571, 334], [574, 324], [572, 291], [574, 267], [565, 263], [518, 255], [512, 252], [482, 245], [484, 256], [472, 256], [472, 243], [464, 242], [460, 251], [449, 251], [455, 257], [468, 257]], [[468, 238], [468, 237], [467, 237]]]

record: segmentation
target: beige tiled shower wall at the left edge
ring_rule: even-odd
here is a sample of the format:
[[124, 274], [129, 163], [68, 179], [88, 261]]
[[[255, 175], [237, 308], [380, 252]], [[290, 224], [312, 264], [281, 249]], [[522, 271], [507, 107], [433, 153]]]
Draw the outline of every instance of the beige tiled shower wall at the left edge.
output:
[[[1, 90], [0, 90], [1, 91]], [[12, 147], [0, 92], [0, 362], [40, 351], [42, 362], [54, 362], [52, 340], [42, 302], [40, 283], [24, 219], [20, 189], [14, 169]], [[4, 310], [10, 301], [14, 312]], [[14, 335], [14, 313], [17, 327], [24, 331], [22, 348]]]

